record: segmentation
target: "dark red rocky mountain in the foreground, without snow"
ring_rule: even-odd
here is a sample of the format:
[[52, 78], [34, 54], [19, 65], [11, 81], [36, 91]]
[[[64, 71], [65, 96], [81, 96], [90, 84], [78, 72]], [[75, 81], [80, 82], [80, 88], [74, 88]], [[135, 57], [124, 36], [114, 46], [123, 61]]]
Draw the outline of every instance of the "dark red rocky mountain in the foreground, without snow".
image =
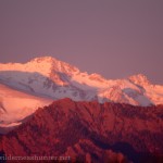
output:
[[4, 155], [70, 156], [71, 162], [163, 161], [163, 105], [54, 101], [0, 137]]

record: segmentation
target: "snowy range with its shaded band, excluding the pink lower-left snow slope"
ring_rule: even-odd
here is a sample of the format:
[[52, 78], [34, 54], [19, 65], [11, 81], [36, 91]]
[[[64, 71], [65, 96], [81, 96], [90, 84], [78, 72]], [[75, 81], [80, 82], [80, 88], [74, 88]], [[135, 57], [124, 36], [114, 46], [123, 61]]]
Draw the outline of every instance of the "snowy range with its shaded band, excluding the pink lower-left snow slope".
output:
[[21, 63], [0, 64], [0, 80], [18, 90], [52, 99], [76, 101], [112, 101], [134, 105], [163, 103], [163, 86], [150, 85], [142, 74], [111, 80], [99, 74], [80, 72], [77, 67], [41, 57]]

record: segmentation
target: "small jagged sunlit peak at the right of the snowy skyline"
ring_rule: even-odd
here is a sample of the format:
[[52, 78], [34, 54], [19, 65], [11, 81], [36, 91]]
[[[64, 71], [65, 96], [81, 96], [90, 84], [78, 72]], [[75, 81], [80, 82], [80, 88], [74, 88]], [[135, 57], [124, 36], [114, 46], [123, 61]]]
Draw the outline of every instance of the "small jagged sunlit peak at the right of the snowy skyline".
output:
[[138, 85], [149, 85], [150, 84], [149, 79], [143, 74], [131, 75], [128, 78], [129, 78], [129, 80], [131, 80], [133, 83], [138, 84]]

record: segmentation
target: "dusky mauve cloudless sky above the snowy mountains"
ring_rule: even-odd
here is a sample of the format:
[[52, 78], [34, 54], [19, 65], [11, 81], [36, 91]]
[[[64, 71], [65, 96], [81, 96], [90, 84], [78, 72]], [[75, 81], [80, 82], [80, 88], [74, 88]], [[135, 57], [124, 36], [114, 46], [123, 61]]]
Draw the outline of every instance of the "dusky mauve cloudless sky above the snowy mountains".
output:
[[41, 55], [163, 84], [163, 0], [0, 0], [0, 62]]

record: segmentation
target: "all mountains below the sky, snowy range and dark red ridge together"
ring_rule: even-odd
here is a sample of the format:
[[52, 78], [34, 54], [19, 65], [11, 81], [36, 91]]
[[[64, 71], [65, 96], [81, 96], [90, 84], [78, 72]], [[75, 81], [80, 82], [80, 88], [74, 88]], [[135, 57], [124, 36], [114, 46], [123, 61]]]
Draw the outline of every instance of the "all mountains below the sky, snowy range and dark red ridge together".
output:
[[162, 138], [163, 86], [142, 74], [105, 79], [51, 57], [0, 63], [0, 163], [162, 163]]

